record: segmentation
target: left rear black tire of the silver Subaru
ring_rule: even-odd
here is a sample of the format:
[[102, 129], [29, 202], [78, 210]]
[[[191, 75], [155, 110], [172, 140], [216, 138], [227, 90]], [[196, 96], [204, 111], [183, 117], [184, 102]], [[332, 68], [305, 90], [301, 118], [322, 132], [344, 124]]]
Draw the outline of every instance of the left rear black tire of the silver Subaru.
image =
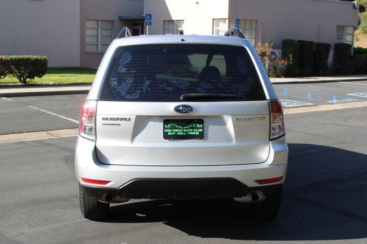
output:
[[106, 217], [110, 208], [109, 203], [98, 201], [97, 197], [92, 197], [85, 194], [79, 189], [79, 200], [82, 215], [89, 220], [102, 220]]

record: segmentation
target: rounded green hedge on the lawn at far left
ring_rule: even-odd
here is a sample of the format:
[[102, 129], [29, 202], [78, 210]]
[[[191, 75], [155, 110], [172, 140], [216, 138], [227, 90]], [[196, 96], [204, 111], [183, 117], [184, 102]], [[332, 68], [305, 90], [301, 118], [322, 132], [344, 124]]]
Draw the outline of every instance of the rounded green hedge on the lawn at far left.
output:
[[48, 57], [45, 56], [0, 56], [2, 77], [12, 75], [22, 84], [46, 74]]

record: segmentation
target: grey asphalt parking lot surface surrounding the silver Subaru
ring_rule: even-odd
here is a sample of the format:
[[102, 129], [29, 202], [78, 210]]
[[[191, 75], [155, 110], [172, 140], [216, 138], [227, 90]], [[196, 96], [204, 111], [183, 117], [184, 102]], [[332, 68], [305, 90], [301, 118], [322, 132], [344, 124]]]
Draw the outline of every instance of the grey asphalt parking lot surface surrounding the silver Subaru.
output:
[[[293, 88], [367, 92], [344, 83]], [[0, 134], [75, 128], [85, 96], [1, 99]], [[0, 144], [0, 243], [367, 243], [367, 107], [285, 119], [290, 164], [280, 214], [270, 223], [240, 215], [228, 201], [145, 200], [89, 221], [78, 203], [75, 137]]]

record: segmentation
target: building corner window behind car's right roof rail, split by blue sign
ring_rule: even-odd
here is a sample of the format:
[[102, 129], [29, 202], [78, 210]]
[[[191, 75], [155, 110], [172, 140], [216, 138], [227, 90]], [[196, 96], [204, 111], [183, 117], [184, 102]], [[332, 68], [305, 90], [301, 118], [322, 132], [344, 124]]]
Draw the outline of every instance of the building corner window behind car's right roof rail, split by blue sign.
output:
[[[214, 19], [213, 34], [224, 35], [229, 28], [234, 27], [234, 19]], [[240, 29], [244, 36], [255, 45], [256, 41], [256, 20], [241, 19]]]

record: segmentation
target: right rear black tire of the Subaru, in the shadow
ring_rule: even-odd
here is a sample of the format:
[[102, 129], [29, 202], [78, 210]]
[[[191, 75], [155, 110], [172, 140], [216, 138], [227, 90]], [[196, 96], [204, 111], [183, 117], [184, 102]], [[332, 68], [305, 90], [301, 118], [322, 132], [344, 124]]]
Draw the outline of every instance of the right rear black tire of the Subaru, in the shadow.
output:
[[274, 194], [268, 195], [263, 201], [248, 203], [250, 216], [260, 220], [273, 220], [277, 217], [282, 198], [282, 188]]

